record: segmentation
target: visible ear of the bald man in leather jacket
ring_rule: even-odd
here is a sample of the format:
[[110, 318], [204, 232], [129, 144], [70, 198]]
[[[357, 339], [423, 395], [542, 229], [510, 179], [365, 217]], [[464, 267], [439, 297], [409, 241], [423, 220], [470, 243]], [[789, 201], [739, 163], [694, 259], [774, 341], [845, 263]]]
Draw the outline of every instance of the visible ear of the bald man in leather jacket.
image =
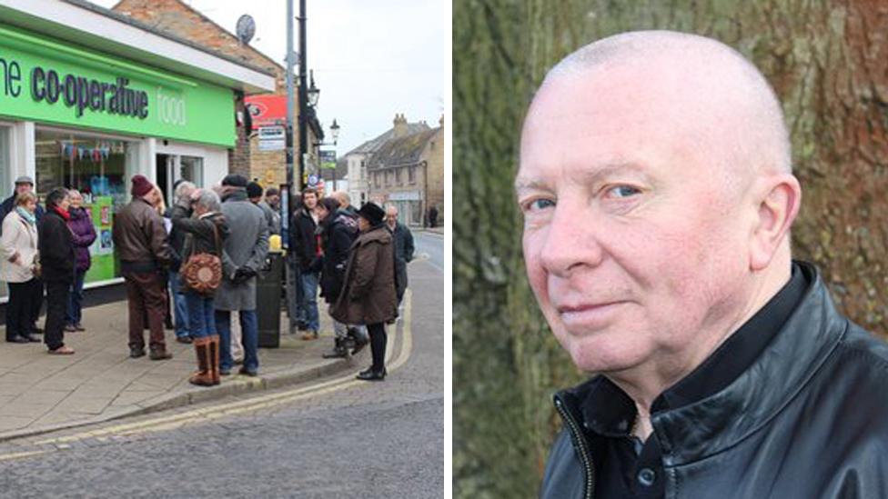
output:
[[802, 205], [802, 186], [790, 174], [762, 178], [762, 195], [750, 239], [750, 269], [766, 268], [789, 236], [790, 226]]

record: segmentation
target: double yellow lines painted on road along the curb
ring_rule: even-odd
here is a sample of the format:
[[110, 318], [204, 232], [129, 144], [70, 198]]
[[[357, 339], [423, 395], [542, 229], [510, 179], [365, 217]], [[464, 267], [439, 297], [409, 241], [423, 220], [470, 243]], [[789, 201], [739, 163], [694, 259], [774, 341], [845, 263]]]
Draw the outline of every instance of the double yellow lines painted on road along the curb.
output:
[[[389, 364], [388, 370], [391, 372], [398, 370], [409, 360], [413, 345], [411, 331], [412, 311], [412, 292], [408, 289], [407, 292], [404, 294], [404, 319], [402, 323], [403, 325], [401, 327], [401, 348], [398, 357], [394, 361], [391, 360], [391, 357], [394, 354], [394, 344], [396, 343], [395, 340], [397, 338], [397, 327], [394, 328], [391, 332], [389, 344], [386, 348], [386, 359], [387, 364]], [[192, 409], [185, 413], [156, 417], [137, 423], [117, 424], [115, 426], [100, 428], [89, 432], [82, 432], [79, 434], [71, 434], [62, 437], [46, 439], [40, 442], [36, 442], [35, 445], [68, 444], [71, 442], [85, 440], [87, 438], [99, 438], [105, 437], [107, 435], [126, 436], [175, 430], [184, 426], [185, 424], [207, 423], [222, 417], [253, 412], [281, 404], [290, 404], [293, 402], [297, 402], [298, 400], [303, 400], [323, 394], [329, 394], [332, 392], [338, 392], [339, 390], [354, 386], [368, 387], [368, 385], [369, 384], [367, 382], [356, 380], [354, 378], [354, 374], [347, 374], [345, 376], [341, 376], [323, 383], [305, 386], [295, 390], [289, 390], [284, 393], [260, 395], [243, 401], [218, 404], [201, 409]], [[0, 454], [0, 460], [3, 460], [4, 458], [5, 455]], [[15, 459], [15, 457], [10, 457], [9, 459]]]

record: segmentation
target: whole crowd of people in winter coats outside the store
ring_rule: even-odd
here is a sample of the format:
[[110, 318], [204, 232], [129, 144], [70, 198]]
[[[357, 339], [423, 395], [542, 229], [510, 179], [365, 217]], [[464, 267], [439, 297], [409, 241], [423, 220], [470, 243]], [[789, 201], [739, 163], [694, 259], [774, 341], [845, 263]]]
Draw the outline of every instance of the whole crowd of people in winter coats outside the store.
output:
[[[269, 240], [282, 230], [280, 193], [227, 175], [212, 189], [179, 180], [166, 207], [158, 186], [131, 179], [131, 201], [112, 227], [126, 285], [129, 355], [172, 358], [165, 328], [176, 341], [193, 344], [197, 371], [190, 382], [219, 384], [231, 374], [256, 376], [257, 275]], [[307, 188], [289, 217], [288, 305], [291, 333], [303, 340], [320, 333], [318, 295], [328, 304], [334, 344], [325, 357], [357, 354], [370, 345], [372, 364], [358, 379], [386, 377], [386, 324], [398, 317], [407, 287], [413, 236], [398, 222], [395, 206], [368, 203], [356, 209], [348, 194], [322, 196]], [[84, 332], [83, 287], [91, 265], [96, 228], [83, 195], [57, 187], [45, 196], [22, 176], [0, 205], [0, 279], [9, 284], [6, 341], [38, 343], [49, 354], [74, 354], [65, 334]], [[37, 320], [45, 294], [43, 330]], [[239, 328], [232, 327], [237, 312]]]

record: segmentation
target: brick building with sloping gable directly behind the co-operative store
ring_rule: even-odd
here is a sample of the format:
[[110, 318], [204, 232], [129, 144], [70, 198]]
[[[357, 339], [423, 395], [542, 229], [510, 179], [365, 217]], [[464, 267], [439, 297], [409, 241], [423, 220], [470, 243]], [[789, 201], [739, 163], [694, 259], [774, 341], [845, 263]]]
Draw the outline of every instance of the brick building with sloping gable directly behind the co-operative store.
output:
[[[157, 30], [177, 35], [197, 45], [217, 51], [219, 54], [264, 69], [275, 75], [277, 87], [275, 94], [287, 94], [287, 69], [284, 66], [279, 65], [256, 48], [248, 44], [241, 44], [236, 35], [180, 0], [121, 0], [112, 7], [112, 10], [152, 25]], [[231, 173], [246, 175], [251, 179], [255, 178], [265, 186], [285, 183], [287, 180], [285, 152], [259, 151], [257, 134], [255, 131], [247, 130], [243, 125], [243, 116], [247, 113], [245, 95], [238, 94], [236, 101], [239, 126], [237, 127], [237, 146], [229, 151], [228, 164]], [[295, 104], [297, 108], [294, 110], [295, 115], [293, 116], [293, 147], [298, 151], [298, 99]], [[308, 161], [309, 164], [317, 165], [315, 144], [323, 140], [323, 131], [314, 109], [309, 108], [308, 112]], [[298, 164], [298, 157], [294, 161]], [[310, 168], [310, 166], [308, 167]]]

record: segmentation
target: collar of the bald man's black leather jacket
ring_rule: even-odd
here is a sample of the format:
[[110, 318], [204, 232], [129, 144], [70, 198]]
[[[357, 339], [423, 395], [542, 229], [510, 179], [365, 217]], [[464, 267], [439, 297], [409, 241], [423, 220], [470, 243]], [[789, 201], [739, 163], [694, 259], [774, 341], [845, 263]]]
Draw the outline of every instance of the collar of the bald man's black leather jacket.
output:
[[[809, 283], [802, 301], [752, 365], [716, 394], [651, 414], [651, 438], [661, 445], [663, 464], [698, 461], [761, 429], [802, 390], [842, 340], [848, 320], [836, 311], [813, 265], [797, 264]], [[612, 403], [608, 385], [597, 376], [555, 397], [583, 421], [582, 405]]]

